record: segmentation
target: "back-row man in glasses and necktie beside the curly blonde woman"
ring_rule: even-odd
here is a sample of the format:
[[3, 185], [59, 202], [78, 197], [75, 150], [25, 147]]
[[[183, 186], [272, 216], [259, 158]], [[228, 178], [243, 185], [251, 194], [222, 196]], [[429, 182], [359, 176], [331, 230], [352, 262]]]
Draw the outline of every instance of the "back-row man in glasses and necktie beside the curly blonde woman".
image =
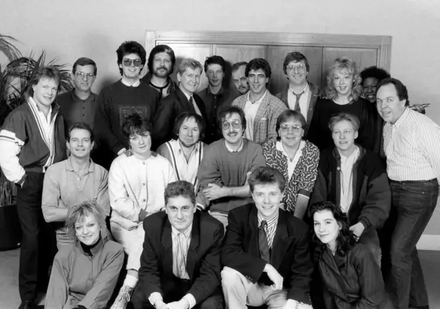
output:
[[283, 70], [289, 80], [289, 85], [276, 96], [289, 109], [303, 114], [309, 125], [320, 92], [317, 85], [307, 81], [310, 70], [309, 61], [300, 52], [289, 52], [284, 60]]

